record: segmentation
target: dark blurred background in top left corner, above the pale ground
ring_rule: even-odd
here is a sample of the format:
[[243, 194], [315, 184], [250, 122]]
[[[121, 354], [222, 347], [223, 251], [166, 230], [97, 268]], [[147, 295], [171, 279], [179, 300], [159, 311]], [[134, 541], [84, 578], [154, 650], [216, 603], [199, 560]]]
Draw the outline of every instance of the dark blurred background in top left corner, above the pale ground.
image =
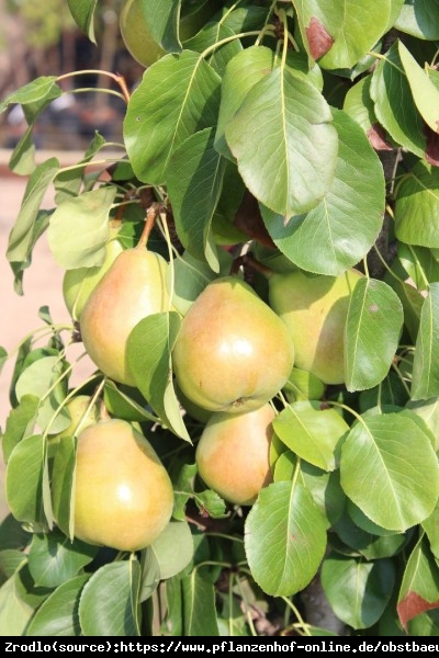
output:
[[[112, 86], [108, 76], [95, 71], [122, 75], [130, 89], [144, 70], [122, 42], [121, 5], [122, 0], [98, 3], [95, 45], [76, 26], [67, 0], [0, 0], [0, 99], [41, 76], [90, 71], [63, 80], [63, 89], [71, 93], [54, 101], [41, 116], [34, 134], [37, 148], [80, 149], [94, 129], [108, 140], [121, 139], [124, 103], [93, 92]], [[13, 147], [24, 129], [20, 106], [10, 107], [0, 115], [0, 147]]]

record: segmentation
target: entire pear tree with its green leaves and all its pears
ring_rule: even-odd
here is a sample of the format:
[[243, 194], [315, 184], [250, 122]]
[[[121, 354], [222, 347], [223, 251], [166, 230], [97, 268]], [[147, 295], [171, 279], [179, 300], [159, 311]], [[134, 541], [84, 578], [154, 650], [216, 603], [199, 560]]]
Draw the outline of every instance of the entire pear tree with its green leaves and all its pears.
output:
[[47, 235], [71, 316], [0, 351], [0, 633], [438, 635], [437, 0], [105, 5], [120, 143], [36, 163], [90, 71], [0, 100], [3, 258], [23, 294]]

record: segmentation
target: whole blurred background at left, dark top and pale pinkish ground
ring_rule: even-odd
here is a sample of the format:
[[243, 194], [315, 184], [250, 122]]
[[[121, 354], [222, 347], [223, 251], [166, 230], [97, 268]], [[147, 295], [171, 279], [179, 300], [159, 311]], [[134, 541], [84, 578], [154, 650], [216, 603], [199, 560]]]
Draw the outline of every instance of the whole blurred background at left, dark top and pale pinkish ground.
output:
[[[95, 92], [97, 88], [119, 91], [111, 78], [99, 71], [120, 73], [128, 89], [144, 71], [122, 42], [121, 5], [122, 0], [98, 3], [95, 45], [74, 23], [67, 0], [0, 0], [0, 101], [41, 76], [88, 71], [65, 78], [59, 84], [66, 93], [38, 117], [33, 133], [37, 163], [52, 155], [61, 166], [78, 162], [95, 131], [109, 141], [122, 141], [123, 101], [111, 93]], [[27, 182], [25, 175], [9, 170], [9, 160], [26, 127], [20, 105], [11, 105], [0, 114], [0, 345], [10, 355], [0, 372], [2, 431], [10, 411], [9, 386], [18, 341], [42, 327], [42, 306], [49, 307], [55, 322], [70, 321], [61, 294], [64, 272], [54, 261], [45, 236], [38, 240], [32, 264], [24, 273], [23, 296], [14, 292], [13, 273], [5, 258], [8, 237]], [[52, 189], [42, 207], [54, 207]], [[71, 383], [83, 381], [91, 370], [90, 362], [80, 362]], [[0, 450], [0, 520], [8, 512], [1, 454]]]

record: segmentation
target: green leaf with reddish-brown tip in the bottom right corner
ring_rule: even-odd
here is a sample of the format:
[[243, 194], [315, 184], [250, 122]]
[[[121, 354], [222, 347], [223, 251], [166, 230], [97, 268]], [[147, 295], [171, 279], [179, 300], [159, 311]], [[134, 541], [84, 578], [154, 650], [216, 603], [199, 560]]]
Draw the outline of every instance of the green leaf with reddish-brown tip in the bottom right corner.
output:
[[403, 628], [421, 612], [439, 608], [439, 567], [421, 536], [407, 560], [397, 601]]

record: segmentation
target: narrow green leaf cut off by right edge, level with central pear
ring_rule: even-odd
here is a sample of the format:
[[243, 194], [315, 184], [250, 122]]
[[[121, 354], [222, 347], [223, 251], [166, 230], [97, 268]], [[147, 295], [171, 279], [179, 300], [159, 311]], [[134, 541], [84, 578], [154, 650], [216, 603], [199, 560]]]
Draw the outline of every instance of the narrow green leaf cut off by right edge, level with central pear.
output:
[[439, 395], [439, 282], [430, 291], [420, 313], [420, 325], [413, 361], [412, 398]]

